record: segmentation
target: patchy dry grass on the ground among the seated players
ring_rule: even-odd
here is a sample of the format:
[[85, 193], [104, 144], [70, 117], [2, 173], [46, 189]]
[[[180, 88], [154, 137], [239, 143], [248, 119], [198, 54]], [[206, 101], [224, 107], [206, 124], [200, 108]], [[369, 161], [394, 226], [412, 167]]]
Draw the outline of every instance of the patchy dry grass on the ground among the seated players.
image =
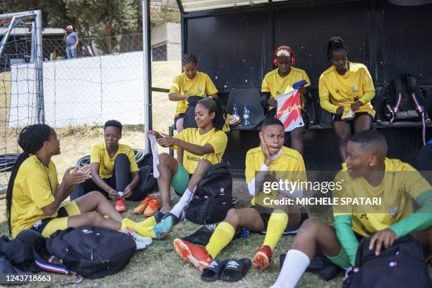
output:
[[[247, 207], [249, 197], [245, 188], [244, 179], [234, 181], [234, 195], [239, 196], [238, 207]], [[132, 209], [137, 203], [127, 202], [128, 211], [125, 217], [132, 220], [143, 220], [143, 217], [133, 215]], [[0, 210], [4, 211], [4, 200], [0, 200]], [[315, 215], [328, 222], [330, 215]], [[0, 233], [8, 234], [4, 215], [0, 217]], [[172, 241], [175, 238], [187, 236], [198, 229], [200, 225], [189, 221], [182, 221], [174, 227], [174, 230], [163, 240], [155, 240], [151, 246], [144, 251], [137, 251], [131, 263], [116, 275], [111, 275], [97, 280], [84, 280], [80, 287], [222, 287], [225, 282], [206, 283], [200, 280], [200, 274], [193, 265], [181, 260], [174, 251]], [[292, 236], [282, 236], [277, 245], [273, 256], [273, 263], [268, 270], [260, 272], [251, 268], [248, 274], [240, 282], [229, 284], [230, 287], [268, 287], [275, 282], [279, 273], [279, 256], [286, 253]], [[227, 258], [253, 258], [253, 255], [264, 240], [264, 236], [251, 233], [247, 238], [235, 239], [217, 257], [218, 259]], [[52, 287], [61, 287], [67, 277], [54, 275]], [[306, 273], [299, 282], [298, 287], [340, 287], [342, 275], [335, 280], [325, 282], [317, 275]], [[32, 287], [47, 287], [47, 284], [32, 284]], [[51, 286], [50, 286], [51, 287]]]

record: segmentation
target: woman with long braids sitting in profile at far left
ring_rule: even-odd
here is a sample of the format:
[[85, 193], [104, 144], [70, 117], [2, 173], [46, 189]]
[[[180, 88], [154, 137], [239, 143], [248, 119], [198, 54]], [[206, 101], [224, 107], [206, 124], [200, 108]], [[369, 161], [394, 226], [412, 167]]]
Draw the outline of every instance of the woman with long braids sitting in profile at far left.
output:
[[[23, 229], [33, 229], [49, 237], [56, 230], [84, 225], [126, 232], [140, 226], [123, 218], [97, 191], [60, 208], [73, 188], [89, 178], [90, 166], [69, 168], [59, 185], [56, 165], [51, 160], [60, 154], [60, 141], [54, 129], [44, 124], [26, 126], [18, 144], [23, 152], [13, 167], [6, 193], [6, 215], [13, 238]], [[132, 234], [136, 241], [143, 240]]]

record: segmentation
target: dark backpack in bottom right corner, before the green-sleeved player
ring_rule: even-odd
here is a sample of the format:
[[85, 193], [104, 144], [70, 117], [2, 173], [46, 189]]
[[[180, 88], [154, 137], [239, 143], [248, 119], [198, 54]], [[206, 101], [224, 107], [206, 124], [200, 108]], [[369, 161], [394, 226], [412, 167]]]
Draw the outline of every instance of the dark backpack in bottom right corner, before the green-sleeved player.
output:
[[356, 268], [349, 268], [344, 288], [431, 288], [431, 277], [421, 246], [411, 235], [396, 239], [391, 248], [375, 256], [369, 250], [370, 238], [361, 239], [356, 254]]

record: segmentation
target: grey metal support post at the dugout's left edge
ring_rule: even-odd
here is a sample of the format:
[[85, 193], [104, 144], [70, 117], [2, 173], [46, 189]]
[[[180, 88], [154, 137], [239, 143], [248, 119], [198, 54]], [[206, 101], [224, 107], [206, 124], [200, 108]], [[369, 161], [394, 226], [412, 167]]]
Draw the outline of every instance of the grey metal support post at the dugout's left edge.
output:
[[150, 55], [150, 9], [148, 0], [142, 0], [143, 9], [143, 88], [144, 88], [144, 150], [150, 152], [147, 131], [150, 127], [150, 117], [152, 107], [150, 105], [150, 87], [151, 87], [151, 55]]

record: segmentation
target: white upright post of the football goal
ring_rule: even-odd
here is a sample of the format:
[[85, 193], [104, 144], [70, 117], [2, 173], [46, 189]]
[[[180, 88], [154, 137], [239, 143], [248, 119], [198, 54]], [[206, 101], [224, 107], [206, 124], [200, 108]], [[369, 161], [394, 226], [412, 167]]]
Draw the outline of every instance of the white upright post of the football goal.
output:
[[36, 68], [36, 92], [37, 92], [37, 120], [40, 124], [45, 124], [45, 107], [44, 107], [44, 83], [42, 63], [44, 61], [44, 54], [42, 49], [42, 11], [35, 11], [35, 32], [36, 32], [36, 55], [35, 55], [35, 68]]

